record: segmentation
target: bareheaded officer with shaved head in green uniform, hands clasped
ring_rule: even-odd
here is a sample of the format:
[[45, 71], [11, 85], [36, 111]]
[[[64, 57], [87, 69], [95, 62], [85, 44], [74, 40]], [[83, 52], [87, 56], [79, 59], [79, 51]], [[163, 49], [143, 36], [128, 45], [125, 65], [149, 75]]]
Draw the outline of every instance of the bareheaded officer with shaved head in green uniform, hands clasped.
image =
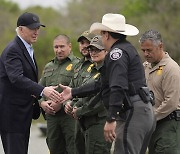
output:
[[[55, 58], [46, 64], [39, 83], [43, 86], [69, 85], [74, 66], [79, 59], [71, 52], [70, 39], [58, 35], [53, 43]], [[61, 89], [57, 89], [61, 92]], [[61, 104], [42, 98], [40, 105], [46, 112], [47, 145], [51, 154], [74, 154], [75, 120], [64, 112]]]

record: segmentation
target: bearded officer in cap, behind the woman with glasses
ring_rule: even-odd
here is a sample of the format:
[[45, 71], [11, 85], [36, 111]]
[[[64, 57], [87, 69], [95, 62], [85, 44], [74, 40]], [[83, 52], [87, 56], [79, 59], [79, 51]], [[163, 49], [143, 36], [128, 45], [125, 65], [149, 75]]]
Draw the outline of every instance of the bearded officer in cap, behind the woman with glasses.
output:
[[[70, 87], [78, 87], [81, 86], [83, 80], [87, 78], [91, 72], [92, 62], [90, 59], [89, 52], [87, 50], [87, 46], [90, 44], [91, 39], [94, 37], [93, 34], [90, 34], [89, 31], [84, 31], [81, 36], [78, 38], [80, 53], [82, 54], [82, 58], [79, 63], [74, 68], [74, 77], [70, 83]], [[78, 102], [78, 99], [73, 99], [72, 102], [66, 102], [65, 108], [78, 107], [81, 106], [81, 102]], [[71, 107], [70, 107], [71, 106]], [[71, 114], [71, 113], [70, 113]], [[79, 122], [75, 123], [75, 149], [77, 154], [85, 154], [85, 139], [84, 139], [84, 131], [79, 126]]]

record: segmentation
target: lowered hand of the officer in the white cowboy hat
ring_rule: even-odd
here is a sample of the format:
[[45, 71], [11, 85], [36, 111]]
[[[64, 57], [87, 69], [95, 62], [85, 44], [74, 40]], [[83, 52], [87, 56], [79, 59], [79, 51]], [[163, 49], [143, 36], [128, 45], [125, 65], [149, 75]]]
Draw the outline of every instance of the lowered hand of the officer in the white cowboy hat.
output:
[[114, 122], [106, 122], [104, 126], [104, 137], [106, 141], [113, 142], [116, 138], [116, 121]]

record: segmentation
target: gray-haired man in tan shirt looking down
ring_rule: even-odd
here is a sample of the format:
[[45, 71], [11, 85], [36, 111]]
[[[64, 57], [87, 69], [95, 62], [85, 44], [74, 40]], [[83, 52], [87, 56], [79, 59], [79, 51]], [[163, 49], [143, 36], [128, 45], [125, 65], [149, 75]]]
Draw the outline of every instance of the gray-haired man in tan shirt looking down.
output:
[[161, 34], [146, 31], [139, 40], [147, 85], [154, 92], [156, 130], [151, 137], [149, 154], [180, 153], [180, 68], [164, 51]]

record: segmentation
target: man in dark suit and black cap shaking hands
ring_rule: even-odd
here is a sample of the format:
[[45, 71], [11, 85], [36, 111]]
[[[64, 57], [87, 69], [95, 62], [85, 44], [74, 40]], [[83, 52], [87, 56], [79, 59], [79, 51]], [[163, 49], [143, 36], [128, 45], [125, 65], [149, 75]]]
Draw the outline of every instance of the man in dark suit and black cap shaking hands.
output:
[[37, 41], [39, 17], [24, 13], [17, 20], [17, 36], [0, 57], [0, 130], [5, 154], [27, 154], [33, 99], [44, 95], [57, 102], [53, 87], [38, 85], [32, 44]]

